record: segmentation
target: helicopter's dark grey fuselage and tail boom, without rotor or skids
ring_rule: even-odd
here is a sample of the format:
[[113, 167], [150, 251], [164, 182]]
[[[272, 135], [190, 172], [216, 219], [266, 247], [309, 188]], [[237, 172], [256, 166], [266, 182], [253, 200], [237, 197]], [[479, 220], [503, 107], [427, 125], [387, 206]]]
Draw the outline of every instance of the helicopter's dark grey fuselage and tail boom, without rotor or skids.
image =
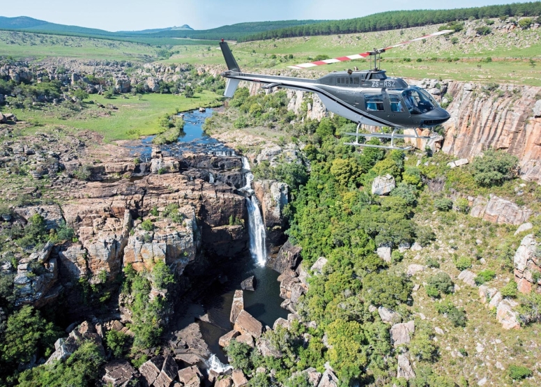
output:
[[[316, 93], [323, 105], [356, 123], [391, 128], [430, 128], [448, 121], [450, 115], [427, 91], [410, 87], [401, 78], [379, 71], [336, 71], [319, 79], [281, 77], [226, 71], [222, 76], [238, 81], [257, 82], [264, 89], [281, 87]], [[407, 92], [416, 106], [408, 108]], [[232, 95], [231, 95], [232, 96]]]

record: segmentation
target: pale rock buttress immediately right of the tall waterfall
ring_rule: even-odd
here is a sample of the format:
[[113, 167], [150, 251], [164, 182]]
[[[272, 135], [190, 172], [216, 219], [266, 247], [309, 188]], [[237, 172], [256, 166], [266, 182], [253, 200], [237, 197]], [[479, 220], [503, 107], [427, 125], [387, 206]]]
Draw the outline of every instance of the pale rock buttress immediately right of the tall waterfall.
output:
[[284, 243], [284, 207], [289, 203], [289, 185], [274, 180], [256, 180], [254, 190], [261, 203], [267, 241], [281, 245]]

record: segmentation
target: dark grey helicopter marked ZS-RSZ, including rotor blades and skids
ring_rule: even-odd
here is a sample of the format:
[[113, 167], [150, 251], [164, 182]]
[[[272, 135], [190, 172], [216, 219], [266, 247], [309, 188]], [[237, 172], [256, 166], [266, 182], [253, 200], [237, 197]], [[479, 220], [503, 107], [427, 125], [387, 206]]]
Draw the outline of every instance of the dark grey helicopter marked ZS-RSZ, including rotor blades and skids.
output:
[[[453, 31], [443, 30], [362, 54], [288, 66], [300, 70], [330, 63], [363, 59], [368, 56], [374, 58], [372, 70], [333, 71], [319, 79], [243, 73], [231, 53], [229, 45], [222, 39], [220, 48], [228, 69], [221, 73], [222, 77], [227, 79], [224, 96], [232, 97], [241, 81], [263, 84], [261, 87], [266, 90], [279, 87], [316, 93], [330, 112], [358, 124], [355, 133], [346, 133], [346, 135], [356, 136], [355, 142], [346, 144], [408, 150], [411, 149], [411, 146], [395, 146], [394, 140], [399, 138], [431, 139], [432, 137], [420, 136], [416, 130], [414, 131], [415, 135], [401, 134], [397, 132], [398, 130], [433, 128], [448, 121], [450, 114], [424, 89], [418, 86], [409, 86], [402, 78], [388, 77], [386, 70], [379, 68], [378, 60], [381, 63], [381, 54], [392, 48], [451, 32]], [[393, 132], [360, 133], [361, 126], [388, 127], [392, 128]], [[359, 137], [390, 139], [390, 146], [361, 143]]]

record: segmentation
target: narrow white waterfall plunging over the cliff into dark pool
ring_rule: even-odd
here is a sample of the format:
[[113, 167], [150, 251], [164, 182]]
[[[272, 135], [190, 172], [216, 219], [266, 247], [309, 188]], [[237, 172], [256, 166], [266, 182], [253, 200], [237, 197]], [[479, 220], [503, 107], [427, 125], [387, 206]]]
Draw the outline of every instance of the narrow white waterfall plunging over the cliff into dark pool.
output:
[[246, 185], [241, 188], [247, 192], [246, 206], [248, 209], [248, 232], [250, 234], [250, 253], [252, 258], [257, 261], [259, 266], [264, 266], [267, 260], [267, 246], [266, 246], [266, 232], [263, 217], [259, 210], [259, 203], [257, 197], [254, 195], [252, 189], [252, 181], [254, 181], [254, 175], [250, 172], [250, 164], [247, 158], [243, 157], [243, 169], [245, 169]]

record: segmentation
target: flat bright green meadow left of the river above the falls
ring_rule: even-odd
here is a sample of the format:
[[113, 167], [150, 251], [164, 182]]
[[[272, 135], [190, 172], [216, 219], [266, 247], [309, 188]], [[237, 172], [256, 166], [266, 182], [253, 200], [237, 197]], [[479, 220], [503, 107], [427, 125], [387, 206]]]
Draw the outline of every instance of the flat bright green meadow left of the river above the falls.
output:
[[[92, 130], [104, 136], [106, 142], [117, 139], [135, 139], [139, 136], [155, 135], [163, 130], [158, 119], [164, 114], [172, 114], [177, 109], [185, 112], [198, 107], [209, 105], [219, 96], [211, 91], [197, 93], [195, 98], [185, 98], [172, 94], [145, 94], [141, 100], [130, 96], [129, 99], [116, 97], [107, 100], [102, 96], [93, 95], [92, 100], [102, 103], [106, 109], [87, 104], [82, 112], [64, 119], [59, 109], [49, 107], [42, 110], [13, 109], [18, 119], [29, 121], [33, 127], [29, 130], [40, 130], [40, 126], [61, 125], [77, 130]], [[118, 107], [110, 110], [108, 104]], [[110, 116], [102, 116], [107, 112]], [[101, 116], [100, 116], [101, 115]]]

